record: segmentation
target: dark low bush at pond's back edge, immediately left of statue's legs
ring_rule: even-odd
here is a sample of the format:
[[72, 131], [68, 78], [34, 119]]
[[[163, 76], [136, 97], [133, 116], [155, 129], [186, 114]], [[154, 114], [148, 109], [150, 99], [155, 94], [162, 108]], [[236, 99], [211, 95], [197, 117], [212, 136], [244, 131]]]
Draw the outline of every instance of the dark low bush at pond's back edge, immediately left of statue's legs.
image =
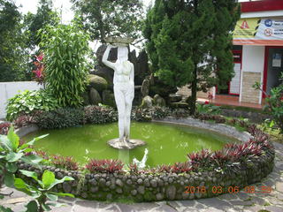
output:
[[105, 106], [89, 105], [84, 108], [84, 122], [89, 124], [105, 124], [118, 120], [117, 110]]

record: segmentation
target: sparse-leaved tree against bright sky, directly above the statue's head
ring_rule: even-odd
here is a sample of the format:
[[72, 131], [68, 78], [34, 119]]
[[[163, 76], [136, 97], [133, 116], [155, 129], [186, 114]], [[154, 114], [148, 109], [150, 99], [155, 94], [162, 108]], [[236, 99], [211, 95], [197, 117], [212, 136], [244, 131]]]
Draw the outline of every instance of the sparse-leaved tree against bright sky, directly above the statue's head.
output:
[[71, 0], [93, 40], [106, 36], [138, 38], [142, 30], [140, 0]]

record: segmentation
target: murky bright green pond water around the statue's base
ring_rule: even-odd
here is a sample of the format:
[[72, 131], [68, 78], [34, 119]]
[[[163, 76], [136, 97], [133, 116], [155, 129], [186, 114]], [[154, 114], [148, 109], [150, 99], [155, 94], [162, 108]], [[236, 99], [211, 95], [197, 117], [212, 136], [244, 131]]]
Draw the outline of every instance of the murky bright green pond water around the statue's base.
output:
[[142, 160], [148, 148], [147, 165], [172, 164], [185, 162], [187, 154], [202, 148], [217, 150], [227, 142], [235, 142], [229, 137], [211, 133], [203, 129], [185, 125], [160, 123], [131, 123], [131, 138], [144, 140], [146, 146], [132, 150], [119, 150], [107, 145], [107, 140], [118, 137], [118, 124], [83, 125], [60, 130], [42, 130], [30, 133], [24, 140], [49, 133], [50, 135], [35, 142], [35, 149], [49, 154], [73, 156], [83, 164], [87, 158], [120, 159], [125, 163], [133, 162], [134, 157]]

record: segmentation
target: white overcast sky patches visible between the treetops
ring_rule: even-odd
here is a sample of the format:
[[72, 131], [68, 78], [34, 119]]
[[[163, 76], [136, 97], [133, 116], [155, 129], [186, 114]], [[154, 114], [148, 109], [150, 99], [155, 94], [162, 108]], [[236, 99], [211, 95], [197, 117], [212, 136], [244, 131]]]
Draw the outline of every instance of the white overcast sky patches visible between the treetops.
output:
[[[153, 0], [143, 0], [143, 4], [149, 6]], [[36, 8], [38, 4], [38, 0], [15, 0], [19, 11], [26, 14], [28, 11], [32, 13], [36, 13]], [[62, 20], [64, 23], [68, 23], [73, 19], [73, 11], [71, 10], [72, 3], [69, 0], [53, 0], [53, 5], [55, 8], [60, 10], [62, 8]]]

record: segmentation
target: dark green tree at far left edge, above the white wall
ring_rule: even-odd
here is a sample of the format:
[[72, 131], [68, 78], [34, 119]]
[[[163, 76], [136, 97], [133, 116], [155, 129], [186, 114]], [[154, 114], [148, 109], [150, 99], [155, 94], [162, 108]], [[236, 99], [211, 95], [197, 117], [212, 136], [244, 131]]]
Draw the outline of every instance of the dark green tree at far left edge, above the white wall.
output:
[[13, 1], [0, 0], [0, 81], [27, 79], [27, 46], [21, 18]]

